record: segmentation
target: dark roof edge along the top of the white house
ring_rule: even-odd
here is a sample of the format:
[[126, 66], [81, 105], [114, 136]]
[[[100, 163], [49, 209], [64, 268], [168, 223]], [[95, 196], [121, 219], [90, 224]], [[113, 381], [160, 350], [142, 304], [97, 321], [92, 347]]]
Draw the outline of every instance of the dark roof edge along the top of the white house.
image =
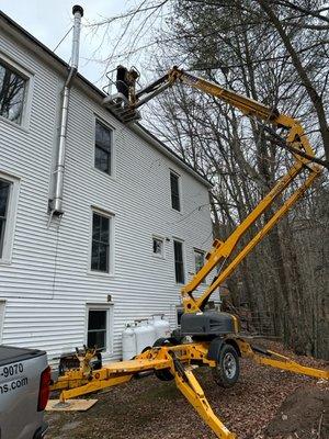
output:
[[[26, 38], [26, 41], [29, 41], [30, 43], [35, 45], [36, 52], [42, 52], [43, 55], [49, 56], [52, 58], [52, 60], [55, 60], [58, 64], [58, 66], [64, 68], [65, 70], [69, 69], [69, 65], [64, 59], [61, 59], [59, 56], [57, 56], [53, 50], [50, 50], [47, 46], [45, 46], [43, 43], [41, 43], [37, 38], [35, 38], [32, 34], [30, 34], [27, 31], [25, 31], [22, 26], [20, 26], [16, 22], [14, 22], [10, 16], [8, 16], [2, 11], [0, 11], [0, 20], [2, 20], [9, 29], [14, 30], [18, 34], [20, 34], [21, 36]], [[90, 89], [91, 91], [99, 94], [101, 97], [101, 99], [106, 97], [106, 94], [102, 90], [100, 90], [98, 87], [95, 87], [92, 82], [90, 82], [81, 74], [78, 72], [77, 78], [88, 89]], [[116, 117], [114, 113], [111, 112], [111, 114], [114, 117]], [[182, 167], [184, 170], [186, 170], [189, 173], [191, 173], [194, 178], [196, 178], [198, 181], [201, 181], [207, 188], [212, 188], [212, 183], [205, 177], [203, 177], [198, 171], [196, 171], [193, 167], [191, 167], [191, 165], [189, 165], [186, 161], [184, 161], [178, 154], [175, 154], [172, 149], [170, 149], [163, 142], [159, 140], [145, 126], [135, 122], [135, 123], [131, 123], [128, 125], [128, 128], [132, 130], [133, 132], [135, 132], [138, 136], [144, 138], [146, 142], [151, 144], [159, 151], [164, 154], [172, 161], [174, 161], [177, 165]]]

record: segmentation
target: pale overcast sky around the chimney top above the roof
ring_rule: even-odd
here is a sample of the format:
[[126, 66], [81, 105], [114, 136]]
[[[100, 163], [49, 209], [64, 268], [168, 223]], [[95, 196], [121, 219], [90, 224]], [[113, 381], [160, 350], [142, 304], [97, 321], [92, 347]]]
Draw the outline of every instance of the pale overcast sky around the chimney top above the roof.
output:
[[[124, 12], [132, 7], [132, 3], [128, 0], [81, 0], [80, 2], [78, 0], [0, 0], [0, 9], [54, 50], [72, 25], [72, 5], [80, 4], [84, 9], [84, 16], [82, 19], [79, 71], [101, 87], [101, 77], [105, 66], [94, 59], [106, 58], [115, 42], [115, 34], [112, 34], [113, 41], [111, 41], [111, 35], [103, 40], [103, 32], [95, 35], [88, 24]], [[56, 49], [56, 54], [69, 61], [70, 50], [71, 33]], [[111, 67], [114, 68], [116, 64]]]

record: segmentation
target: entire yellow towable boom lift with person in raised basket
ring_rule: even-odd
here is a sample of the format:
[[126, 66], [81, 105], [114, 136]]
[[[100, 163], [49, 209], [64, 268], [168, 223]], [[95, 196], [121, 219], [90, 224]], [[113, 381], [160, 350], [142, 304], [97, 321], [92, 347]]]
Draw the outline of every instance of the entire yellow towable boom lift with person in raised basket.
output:
[[[69, 398], [123, 384], [140, 372], [154, 371], [156, 376], [162, 381], [174, 380], [177, 387], [218, 438], [232, 439], [236, 438], [236, 435], [230, 432], [214, 414], [196, 381], [192, 372], [195, 364], [212, 368], [216, 383], [224, 387], [230, 387], [238, 381], [239, 357], [249, 358], [258, 364], [319, 379], [329, 379], [328, 371], [303, 367], [276, 352], [253, 346], [248, 337], [246, 338], [239, 333], [239, 322], [236, 316], [205, 309], [211, 294], [225, 282], [253, 247], [303, 196], [320, 176], [322, 169], [314, 162], [314, 150], [300, 124], [295, 119], [281, 114], [277, 110], [192, 76], [177, 67], [138, 92], [135, 90], [138, 72], [135, 69], [126, 70], [125, 76], [122, 72], [123, 70], [121, 70], [121, 83], [117, 87], [120, 92], [105, 98], [105, 104], [123, 122], [136, 120], [138, 117], [137, 109], [140, 105], [174, 83], [183, 83], [239, 109], [245, 115], [261, 123], [264, 128], [268, 125], [285, 128], [286, 138], [280, 142], [292, 151], [294, 162], [287, 173], [276, 182], [270, 193], [261, 200], [225, 241], [218, 239], [214, 241], [204, 267], [182, 288], [184, 314], [179, 330], [174, 330], [168, 339], [157, 340], [151, 349], [138, 354], [133, 360], [107, 363], [99, 370], [93, 370], [91, 365], [91, 359], [95, 351], [86, 349], [84, 353], [79, 357], [80, 368], [66, 371], [52, 385], [52, 390], [61, 391], [60, 402], [65, 405]], [[275, 135], [273, 128], [269, 127], [268, 130]], [[305, 178], [297, 179], [302, 175], [305, 175]], [[277, 200], [292, 185], [293, 181], [299, 182], [298, 189], [292, 191], [261, 230], [243, 248], [234, 254], [245, 233], [274, 200]], [[200, 297], [194, 297], [193, 292], [203, 279], [218, 266], [223, 270]]]

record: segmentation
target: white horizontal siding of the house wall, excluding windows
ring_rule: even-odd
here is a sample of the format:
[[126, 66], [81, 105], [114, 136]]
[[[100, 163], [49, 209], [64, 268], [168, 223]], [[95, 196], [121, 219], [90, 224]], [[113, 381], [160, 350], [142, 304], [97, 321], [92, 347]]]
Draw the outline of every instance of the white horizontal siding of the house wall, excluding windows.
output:
[[[20, 189], [11, 264], [0, 263], [0, 300], [5, 301], [2, 342], [46, 349], [52, 360], [86, 344], [86, 305], [109, 306], [111, 295], [112, 328], [104, 360], [120, 359], [126, 322], [164, 313], [174, 327], [181, 285], [174, 282], [172, 236], [184, 240], [185, 273], [194, 271], [193, 248], [208, 248], [212, 243], [207, 187], [115, 120], [102, 108], [102, 98], [87, 92], [77, 78], [69, 105], [65, 213], [49, 223], [66, 77], [58, 74], [55, 61], [55, 66], [49, 59], [45, 63], [3, 29], [0, 34], [0, 53], [34, 74], [29, 131], [0, 119], [0, 171], [19, 178]], [[115, 133], [115, 179], [94, 168], [95, 114]], [[184, 195], [179, 221], [170, 205], [172, 168], [181, 176]], [[110, 215], [109, 273], [90, 270], [91, 206], [103, 215], [115, 214]], [[163, 237], [164, 259], [152, 255], [154, 234]]]

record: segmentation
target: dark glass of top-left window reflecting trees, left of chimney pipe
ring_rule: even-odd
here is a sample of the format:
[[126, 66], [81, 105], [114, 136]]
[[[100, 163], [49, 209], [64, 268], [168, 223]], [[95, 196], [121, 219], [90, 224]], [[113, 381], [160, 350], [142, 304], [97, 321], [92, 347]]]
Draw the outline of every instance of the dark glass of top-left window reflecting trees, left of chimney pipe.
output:
[[26, 80], [0, 61], [0, 115], [21, 123]]

